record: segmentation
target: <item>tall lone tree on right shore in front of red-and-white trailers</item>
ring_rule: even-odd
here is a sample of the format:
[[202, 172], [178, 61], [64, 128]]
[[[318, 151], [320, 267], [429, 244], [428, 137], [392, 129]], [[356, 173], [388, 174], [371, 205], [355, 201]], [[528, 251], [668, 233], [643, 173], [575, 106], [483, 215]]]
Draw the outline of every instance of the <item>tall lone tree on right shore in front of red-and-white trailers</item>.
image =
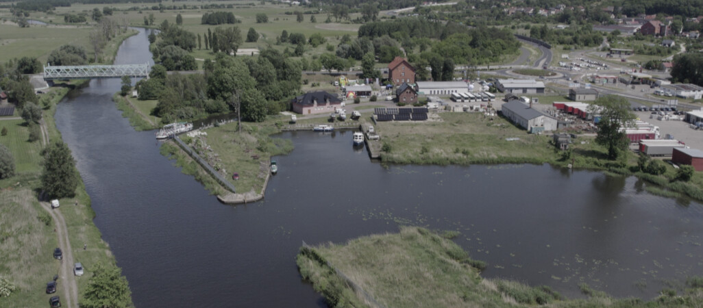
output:
[[594, 105], [602, 108], [600, 121], [595, 124], [598, 128], [595, 142], [607, 148], [608, 159], [618, 159], [630, 143], [620, 128], [635, 121], [635, 115], [630, 112], [630, 103], [619, 96], [607, 95], [596, 100]]

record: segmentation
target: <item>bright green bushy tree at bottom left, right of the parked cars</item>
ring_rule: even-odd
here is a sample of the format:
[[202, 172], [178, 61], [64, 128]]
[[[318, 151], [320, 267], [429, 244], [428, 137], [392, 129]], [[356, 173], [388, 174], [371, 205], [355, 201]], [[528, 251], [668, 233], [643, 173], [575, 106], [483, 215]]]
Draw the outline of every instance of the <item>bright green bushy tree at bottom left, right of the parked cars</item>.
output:
[[96, 265], [79, 306], [86, 308], [131, 307], [131, 291], [127, 278], [122, 276], [122, 269], [115, 265], [108, 267], [101, 264]]

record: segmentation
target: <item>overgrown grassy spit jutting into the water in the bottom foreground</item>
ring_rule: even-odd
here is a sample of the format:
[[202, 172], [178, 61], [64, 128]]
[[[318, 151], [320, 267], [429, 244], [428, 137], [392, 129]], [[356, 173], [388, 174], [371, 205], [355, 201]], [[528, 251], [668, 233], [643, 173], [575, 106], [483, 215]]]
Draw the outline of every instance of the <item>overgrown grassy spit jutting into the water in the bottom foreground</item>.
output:
[[449, 239], [418, 227], [344, 245], [303, 247], [296, 262], [302, 278], [331, 307], [693, 307], [703, 300], [699, 278], [688, 280], [683, 295], [662, 292], [652, 302], [613, 299], [585, 285], [581, 289], [588, 299], [566, 300], [546, 286], [483, 279], [477, 269], [482, 262], [470, 259]]

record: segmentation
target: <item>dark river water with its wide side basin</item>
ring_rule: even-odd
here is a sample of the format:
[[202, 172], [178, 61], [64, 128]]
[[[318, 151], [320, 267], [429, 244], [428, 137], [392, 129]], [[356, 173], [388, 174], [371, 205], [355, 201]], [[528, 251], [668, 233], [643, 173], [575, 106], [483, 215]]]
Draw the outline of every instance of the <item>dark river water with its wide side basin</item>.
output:
[[[150, 62], [143, 30], [116, 62]], [[227, 206], [159, 154], [112, 102], [120, 79], [91, 81], [56, 124], [91, 196], [95, 223], [137, 307], [324, 307], [301, 281], [302, 241], [344, 242], [399, 224], [457, 230], [485, 277], [579, 297], [585, 282], [649, 299], [703, 274], [703, 207], [652, 196], [636, 178], [550, 166], [390, 166], [352, 133], [283, 133], [295, 150], [259, 203]], [[90, 267], [90, 265], [86, 265]]]

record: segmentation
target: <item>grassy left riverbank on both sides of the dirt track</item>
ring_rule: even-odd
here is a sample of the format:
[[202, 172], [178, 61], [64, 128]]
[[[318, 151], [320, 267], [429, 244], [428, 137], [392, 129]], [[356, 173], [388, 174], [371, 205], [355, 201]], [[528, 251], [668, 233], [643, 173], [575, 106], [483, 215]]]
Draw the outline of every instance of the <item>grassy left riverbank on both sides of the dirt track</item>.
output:
[[[49, 141], [60, 140], [53, 114], [56, 103], [67, 93], [68, 88], [51, 88], [51, 108], [44, 111], [44, 121], [49, 133]], [[46, 282], [58, 273], [60, 261], [52, 257], [57, 247], [56, 222], [39, 205], [38, 193], [41, 189], [41, 141], [27, 141], [29, 128], [22, 120], [0, 121], [0, 126], [11, 126], [8, 135], [0, 137], [18, 163], [17, 174], [13, 178], [0, 180], [0, 277], [8, 279], [16, 288], [9, 297], [0, 298], [1, 307], [43, 307], [50, 295], [44, 293]], [[75, 203], [78, 203], [76, 206]], [[90, 206], [90, 197], [81, 182], [74, 198], [60, 199], [69, 241], [75, 260], [82, 262], [86, 274], [77, 279], [79, 291], [85, 290], [92, 276], [91, 269], [98, 264], [112, 265], [115, 257], [101, 238], [98, 228], [93, 225], [95, 213]], [[86, 245], [86, 249], [83, 247]], [[59, 284], [58, 295], [63, 295]], [[82, 298], [82, 292], [79, 292]]]

